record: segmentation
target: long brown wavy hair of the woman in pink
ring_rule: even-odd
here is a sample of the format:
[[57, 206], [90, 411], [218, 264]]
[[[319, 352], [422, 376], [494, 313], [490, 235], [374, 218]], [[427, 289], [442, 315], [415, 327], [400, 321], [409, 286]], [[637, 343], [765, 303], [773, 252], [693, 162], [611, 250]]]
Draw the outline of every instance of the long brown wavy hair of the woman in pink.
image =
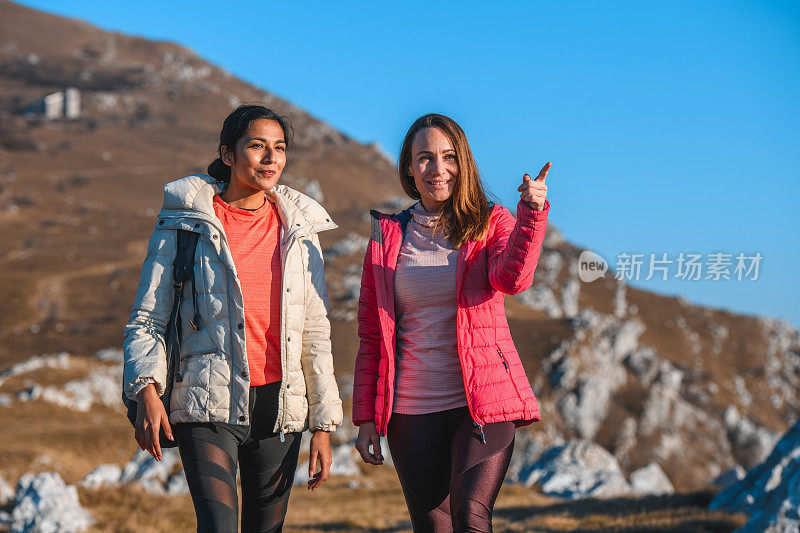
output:
[[467, 136], [461, 126], [452, 118], [429, 113], [419, 117], [408, 128], [397, 162], [397, 171], [403, 190], [414, 200], [420, 199], [417, 186], [414, 185], [414, 176], [409, 172], [409, 166], [411, 165], [411, 145], [414, 143], [414, 137], [418, 131], [425, 128], [441, 130], [450, 138], [456, 151], [458, 176], [453, 186], [453, 194], [445, 201], [440, 218], [445, 235], [456, 247], [460, 247], [467, 241], [483, 239], [489, 229], [491, 206], [486, 198], [486, 191], [483, 188], [469, 142], [467, 142]]

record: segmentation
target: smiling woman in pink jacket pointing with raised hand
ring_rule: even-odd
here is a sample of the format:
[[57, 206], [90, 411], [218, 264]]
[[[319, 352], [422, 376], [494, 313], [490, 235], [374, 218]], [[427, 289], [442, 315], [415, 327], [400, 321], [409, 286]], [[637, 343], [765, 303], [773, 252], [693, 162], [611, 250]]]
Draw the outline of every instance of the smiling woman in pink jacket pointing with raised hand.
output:
[[503, 299], [533, 280], [549, 169], [525, 174], [514, 220], [487, 200], [463, 130], [429, 114], [408, 130], [398, 163], [403, 189], [419, 201], [371, 213], [356, 448], [382, 464], [380, 436], [388, 437], [414, 531], [491, 531], [514, 429], [539, 420]]

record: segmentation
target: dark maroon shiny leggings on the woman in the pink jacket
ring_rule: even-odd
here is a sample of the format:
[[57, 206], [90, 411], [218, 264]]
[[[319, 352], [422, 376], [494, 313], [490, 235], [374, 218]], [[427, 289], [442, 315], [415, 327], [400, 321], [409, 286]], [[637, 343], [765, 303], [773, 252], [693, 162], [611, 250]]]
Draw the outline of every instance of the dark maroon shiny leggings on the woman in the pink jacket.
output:
[[414, 531], [492, 531], [514, 450], [514, 423], [476, 427], [466, 407], [393, 414], [388, 441]]

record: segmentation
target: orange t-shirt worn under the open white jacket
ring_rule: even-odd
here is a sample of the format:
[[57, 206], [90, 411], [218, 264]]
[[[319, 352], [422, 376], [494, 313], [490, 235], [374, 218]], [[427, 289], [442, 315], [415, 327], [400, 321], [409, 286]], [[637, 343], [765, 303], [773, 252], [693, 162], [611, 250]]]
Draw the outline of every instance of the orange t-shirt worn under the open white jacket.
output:
[[254, 211], [214, 196], [244, 297], [250, 386], [281, 380], [281, 221], [269, 200]]

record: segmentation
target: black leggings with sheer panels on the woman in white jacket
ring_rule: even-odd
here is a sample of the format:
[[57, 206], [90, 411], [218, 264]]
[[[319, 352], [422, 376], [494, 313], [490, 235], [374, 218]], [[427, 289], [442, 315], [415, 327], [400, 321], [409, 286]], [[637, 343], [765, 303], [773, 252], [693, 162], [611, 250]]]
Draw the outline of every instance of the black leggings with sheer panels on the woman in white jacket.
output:
[[280, 382], [250, 388], [249, 435], [247, 426], [175, 425], [198, 532], [238, 530], [237, 461], [242, 478], [242, 531], [283, 529], [300, 452], [300, 433], [285, 434], [285, 442], [273, 433], [279, 391]]

